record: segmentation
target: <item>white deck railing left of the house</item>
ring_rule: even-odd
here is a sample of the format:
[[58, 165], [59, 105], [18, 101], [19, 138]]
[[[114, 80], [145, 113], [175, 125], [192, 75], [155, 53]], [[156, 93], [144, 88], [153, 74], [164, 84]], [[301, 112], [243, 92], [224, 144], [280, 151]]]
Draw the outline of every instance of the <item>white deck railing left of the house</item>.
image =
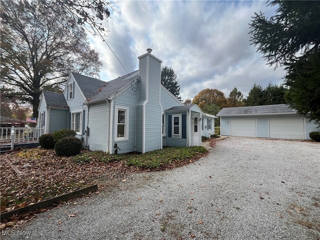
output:
[[39, 141], [40, 128], [36, 127], [0, 127], [0, 145], [11, 146], [18, 143], [33, 143]]

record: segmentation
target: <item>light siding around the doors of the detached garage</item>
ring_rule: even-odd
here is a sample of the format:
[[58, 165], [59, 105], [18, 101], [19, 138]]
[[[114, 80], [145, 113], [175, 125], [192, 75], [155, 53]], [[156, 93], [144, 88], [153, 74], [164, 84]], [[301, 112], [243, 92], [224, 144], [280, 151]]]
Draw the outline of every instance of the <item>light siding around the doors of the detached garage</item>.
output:
[[305, 128], [305, 139], [310, 139], [309, 132], [317, 131], [316, 124], [309, 119], [297, 114], [274, 114], [274, 115], [248, 115], [248, 116], [220, 116], [221, 135], [230, 135], [230, 119], [256, 119], [256, 136], [269, 137], [269, 119], [303, 118]]

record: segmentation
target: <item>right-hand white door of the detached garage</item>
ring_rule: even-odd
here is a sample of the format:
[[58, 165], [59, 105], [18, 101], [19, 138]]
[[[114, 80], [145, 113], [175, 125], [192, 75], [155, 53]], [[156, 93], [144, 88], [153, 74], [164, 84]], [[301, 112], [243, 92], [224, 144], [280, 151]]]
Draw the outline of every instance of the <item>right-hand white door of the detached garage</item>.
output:
[[282, 139], [304, 139], [304, 119], [269, 119], [269, 137]]

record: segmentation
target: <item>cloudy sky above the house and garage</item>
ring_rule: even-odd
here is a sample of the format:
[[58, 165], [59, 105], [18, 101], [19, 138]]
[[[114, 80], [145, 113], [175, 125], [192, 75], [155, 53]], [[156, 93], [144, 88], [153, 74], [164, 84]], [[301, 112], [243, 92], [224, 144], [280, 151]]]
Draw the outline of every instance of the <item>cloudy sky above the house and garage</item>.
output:
[[[137, 56], [152, 54], [177, 74], [182, 99], [205, 88], [227, 97], [236, 87], [244, 96], [254, 83], [280, 84], [285, 72], [266, 65], [249, 42], [254, 12], [274, 15], [265, 1], [119, 1], [106, 23], [107, 42], [128, 72], [138, 69]], [[101, 80], [126, 74], [105, 43], [91, 39], [103, 63]]]

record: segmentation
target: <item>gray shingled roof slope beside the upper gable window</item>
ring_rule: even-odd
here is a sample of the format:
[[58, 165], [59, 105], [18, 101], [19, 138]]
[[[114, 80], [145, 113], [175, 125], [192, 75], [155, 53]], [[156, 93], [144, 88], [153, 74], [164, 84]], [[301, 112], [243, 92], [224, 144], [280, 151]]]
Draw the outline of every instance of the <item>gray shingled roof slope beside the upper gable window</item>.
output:
[[80, 87], [85, 99], [95, 96], [98, 92], [98, 89], [102, 89], [107, 84], [106, 81], [102, 81], [89, 76], [84, 76], [79, 73], [71, 72], [71, 74]]

